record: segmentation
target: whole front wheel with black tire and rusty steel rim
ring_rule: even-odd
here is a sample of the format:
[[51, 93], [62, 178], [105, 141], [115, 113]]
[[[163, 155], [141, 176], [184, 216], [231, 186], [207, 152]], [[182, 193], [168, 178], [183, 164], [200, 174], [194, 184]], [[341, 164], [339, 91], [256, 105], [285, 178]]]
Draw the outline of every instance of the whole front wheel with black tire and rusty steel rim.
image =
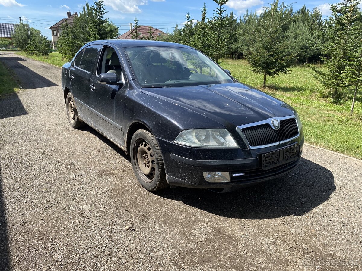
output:
[[139, 183], [148, 191], [167, 188], [165, 167], [156, 138], [146, 130], [138, 130], [131, 139], [130, 156]]

